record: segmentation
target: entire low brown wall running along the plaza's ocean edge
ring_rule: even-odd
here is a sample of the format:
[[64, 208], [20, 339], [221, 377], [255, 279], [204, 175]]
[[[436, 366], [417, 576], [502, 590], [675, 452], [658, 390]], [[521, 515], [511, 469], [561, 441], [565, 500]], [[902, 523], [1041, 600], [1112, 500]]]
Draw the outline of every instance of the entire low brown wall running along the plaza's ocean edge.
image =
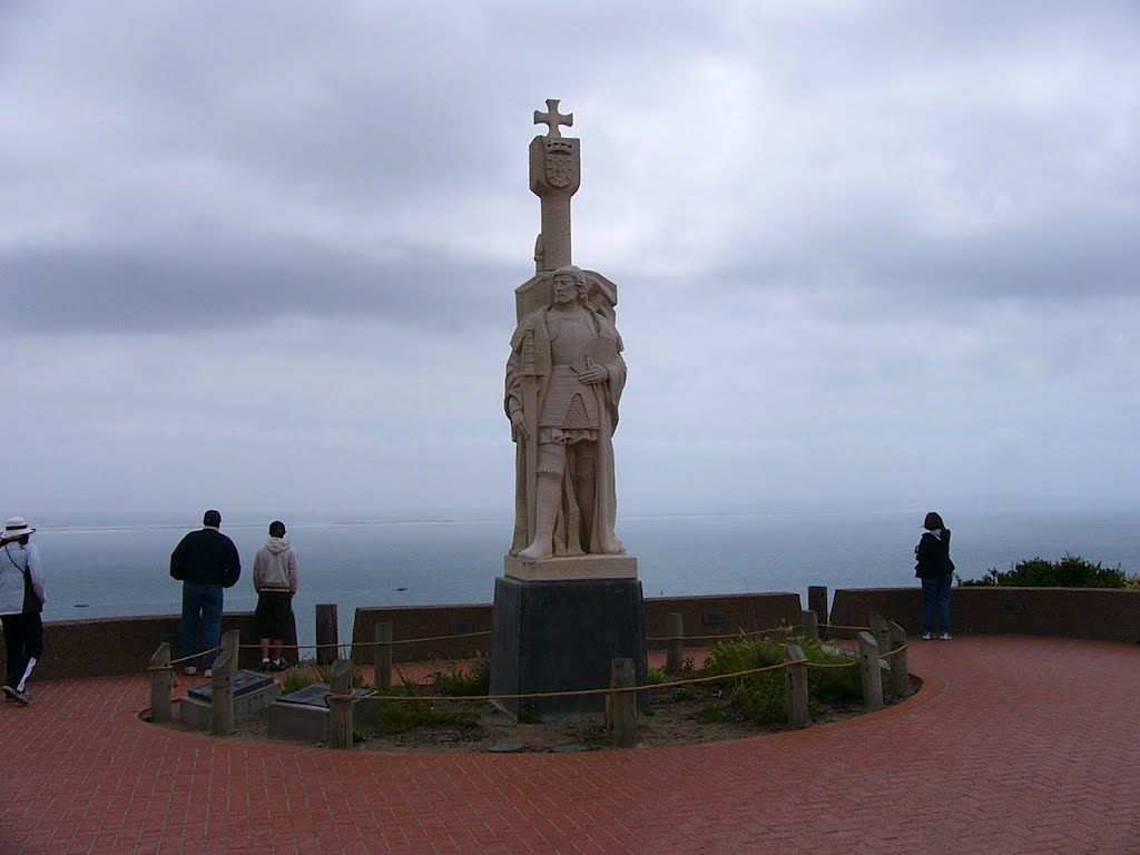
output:
[[[731, 638], [741, 630], [800, 625], [798, 594], [731, 594], [645, 600], [645, 635], [650, 649], [665, 646], [667, 616], [679, 612], [684, 634]], [[832, 597], [831, 622], [866, 626], [872, 611], [899, 624], [909, 635], [922, 630], [920, 588], [839, 589]], [[1140, 642], [1140, 591], [1104, 588], [955, 587], [951, 601], [955, 635], [1012, 633], [1104, 641]], [[304, 619], [304, 616], [302, 616]], [[441, 641], [398, 644], [394, 661], [457, 659], [490, 650], [491, 606], [467, 605], [358, 609], [352, 629], [353, 659], [370, 665], [377, 621], [393, 625], [396, 641], [442, 636]], [[96, 618], [44, 624], [44, 656], [38, 679], [142, 674], [162, 642], [171, 657], [181, 656], [177, 614]], [[237, 629], [243, 645], [256, 643], [253, 612], [227, 612], [222, 629]], [[466, 636], [466, 637], [451, 637]], [[293, 637], [295, 638], [295, 632]], [[709, 644], [712, 640], [693, 641]], [[309, 653], [310, 651], [306, 651]], [[296, 660], [294, 652], [287, 658]], [[5, 654], [0, 646], [0, 667]], [[243, 649], [242, 668], [256, 668], [258, 651]]]

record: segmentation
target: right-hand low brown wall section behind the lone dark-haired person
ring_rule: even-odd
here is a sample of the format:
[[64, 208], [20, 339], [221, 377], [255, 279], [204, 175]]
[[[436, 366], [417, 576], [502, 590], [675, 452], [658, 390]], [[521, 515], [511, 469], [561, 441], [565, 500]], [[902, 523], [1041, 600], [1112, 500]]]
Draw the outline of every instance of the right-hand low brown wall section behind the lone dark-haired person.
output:
[[[866, 626], [871, 612], [907, 635], [922, 632], [922, 591], [860, 588], [834, 592], [831, 622]], [[950, 601], [955, 635], [1049, 635], [1140, 642], [1140, 591], [1115, 588], [955, 587]]]

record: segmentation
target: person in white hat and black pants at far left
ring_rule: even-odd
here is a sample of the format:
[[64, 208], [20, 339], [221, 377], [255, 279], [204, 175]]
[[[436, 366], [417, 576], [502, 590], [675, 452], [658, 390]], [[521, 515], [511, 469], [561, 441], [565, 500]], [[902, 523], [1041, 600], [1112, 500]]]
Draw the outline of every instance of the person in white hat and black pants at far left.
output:
[[40, 612], [47, 602], [40, 551], [30, 542], [33, 531], [23, 516], [13, 516], [0, 535], [0, 621], [8, 654], [3, 693], [6, 701], [25, 707], [32, 701], [27, 679], [43, 656]]

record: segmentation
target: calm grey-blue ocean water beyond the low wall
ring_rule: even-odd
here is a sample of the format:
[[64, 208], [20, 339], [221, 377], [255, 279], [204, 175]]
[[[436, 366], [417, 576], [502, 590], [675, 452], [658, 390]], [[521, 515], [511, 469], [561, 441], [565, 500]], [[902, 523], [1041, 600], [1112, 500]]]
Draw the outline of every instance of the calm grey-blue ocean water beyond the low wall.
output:
[[[799, 593], [809, 585], [917, 585], [913, 547], [925, 511], [629, 516], [618, 535], [638, 560], [644, 594], [675, 596]], [[944, 513], [962, 578], [1021, 559], [1066, 552], [1140, 572], [1140, 527], [1129, 511]], [[287, 521], [301, 562], [294, 600], [299, 643], [314, 641], [317, 603], [335, 603], [340, 637], [351, 637], [358, 606], [489, 603], [510, 545], [508, 519]], [[177, 614], [181, 586], [170, 552], [187, 531], [170, 521], [39, 524], [44, 562], [44, 620]], [[253, 555], [266, 522], [226, 522], [243, 576], [226, 592], [227, 610], [252, 610]]]

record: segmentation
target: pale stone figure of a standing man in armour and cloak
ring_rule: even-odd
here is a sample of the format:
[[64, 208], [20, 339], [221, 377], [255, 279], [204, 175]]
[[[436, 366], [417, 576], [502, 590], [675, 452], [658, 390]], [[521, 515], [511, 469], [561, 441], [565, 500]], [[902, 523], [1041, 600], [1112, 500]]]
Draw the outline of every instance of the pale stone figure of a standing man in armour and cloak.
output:
[[587, 301], [586, 275], [554, 271], [553, 304], [511, 337], [504, 406], [518, 445], [512, 555], [620, 555], [612, 435], [626, 384], [621, 336]]

